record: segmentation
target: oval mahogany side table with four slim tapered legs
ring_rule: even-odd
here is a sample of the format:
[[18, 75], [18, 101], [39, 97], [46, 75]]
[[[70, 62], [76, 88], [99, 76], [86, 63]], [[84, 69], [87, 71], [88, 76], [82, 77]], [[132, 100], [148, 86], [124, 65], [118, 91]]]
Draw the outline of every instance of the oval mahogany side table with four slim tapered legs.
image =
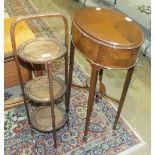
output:
[[122, 95], [118, 101], [119, 107], [113, 126], [115, 129], [144, 35], [140, 27], [124, 14], [108, 8], [95, 7], [80, 9], [73, 15], [71, 33], [69, 97], [75, 48], [90, 62], [92, 68], [84, 131], [84, 138], [86, 138], [93, 110], [98, 73], [101, 80], [103, 69], [128, 70]]

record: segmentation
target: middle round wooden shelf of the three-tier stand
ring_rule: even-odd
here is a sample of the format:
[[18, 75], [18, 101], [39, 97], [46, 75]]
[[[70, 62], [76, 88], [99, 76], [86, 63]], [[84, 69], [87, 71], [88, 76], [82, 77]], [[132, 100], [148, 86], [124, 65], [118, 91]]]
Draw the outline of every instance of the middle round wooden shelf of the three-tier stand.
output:
[[[66, 92], [66, 89], [66, 84], [61, 78], [53, 77], [54, 100], [62, 97]], [[35, 102], [50, 102], [49, 80], [47, 76], [39, 76], [27, 82], [24, 90], [26, 96]]]

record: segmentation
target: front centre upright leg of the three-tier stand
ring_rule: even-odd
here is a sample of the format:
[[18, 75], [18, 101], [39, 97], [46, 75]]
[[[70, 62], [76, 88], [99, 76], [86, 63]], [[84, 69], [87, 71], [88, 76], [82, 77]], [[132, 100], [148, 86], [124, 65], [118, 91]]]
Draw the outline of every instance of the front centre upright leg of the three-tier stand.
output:
[[55, 128], [55, 113], [54, 113], [54, 97], [53, 97], [53, 74], [52, 74], [52, 63], [51, 62], [48, 63], [48, 78], [49, 78], [49, 92], [50, 92], [50, 102], [51, 102], [53, 140], [54, 140], [54, 147], [57, 148], [56, 128]]

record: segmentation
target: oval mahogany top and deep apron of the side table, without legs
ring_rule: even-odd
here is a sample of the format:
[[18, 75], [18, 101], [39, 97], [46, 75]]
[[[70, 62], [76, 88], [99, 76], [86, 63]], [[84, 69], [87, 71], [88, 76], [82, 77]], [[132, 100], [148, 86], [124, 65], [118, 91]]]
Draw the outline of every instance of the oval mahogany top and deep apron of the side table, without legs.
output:
[[128, 68], [137, 61], [143, 31], [129, 17], [107, 8], [84, 8], [72, 18], [72, 41], [91, 62]]

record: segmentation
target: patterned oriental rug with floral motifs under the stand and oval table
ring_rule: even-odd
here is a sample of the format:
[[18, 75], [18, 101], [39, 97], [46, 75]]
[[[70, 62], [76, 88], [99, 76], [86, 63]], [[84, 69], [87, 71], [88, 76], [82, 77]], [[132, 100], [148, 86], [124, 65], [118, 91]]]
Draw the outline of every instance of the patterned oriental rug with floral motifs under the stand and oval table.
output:
[[[10, 16], [37, 12], [29, 0], [5, 0], [4, 4]], [[36, 27], [37, 24], [39, 24], [39, 29], [38, 26]], [[49, 29], [43, 20], [29, 23], [29, 26], [36, 36], [41, 35], [42, 32], [44, 35], [49, 35], [50, 33], [54, 36], [52, 30]], [[63, 70], [59, 72], [59, 75], [63, 77]], [[74, 65], [73, 79], [80, 84], [85, 84], [88, 79], [87, 74], [77, 62]], [[5, 90], [5, 100], [17, 96], [20, 97], [20, 89], [18, 86]], [[53, 147], [52, 133], [43, 134], [35, 131], [34, 137], [37, 145], [34, 145], [23, 105], [5, 111], [5, 155], [52, 155], [55, 153], [58, 155], [113, 155], [129, 152], [133, 148], [142, 146], [143, 141], [141, 138], [132, 131], [123, 118], [120, 118], [117, 130], [112, 131], [116, 110], [106, 99], [96, 99], [94, 101], [91, 125], [88, 133], [89, 136], [87, 142], [84, 143], [82, 138], [87, 98], [87, 90], [72, 88], [69, 114], [70, 131], [66, 125], [57, 131], [57, 152]], [[64, 108], [63, 100], [59, 105]], [[29, 109], [30, 111], [34, 111], [36, 107], [29, 105]]]

